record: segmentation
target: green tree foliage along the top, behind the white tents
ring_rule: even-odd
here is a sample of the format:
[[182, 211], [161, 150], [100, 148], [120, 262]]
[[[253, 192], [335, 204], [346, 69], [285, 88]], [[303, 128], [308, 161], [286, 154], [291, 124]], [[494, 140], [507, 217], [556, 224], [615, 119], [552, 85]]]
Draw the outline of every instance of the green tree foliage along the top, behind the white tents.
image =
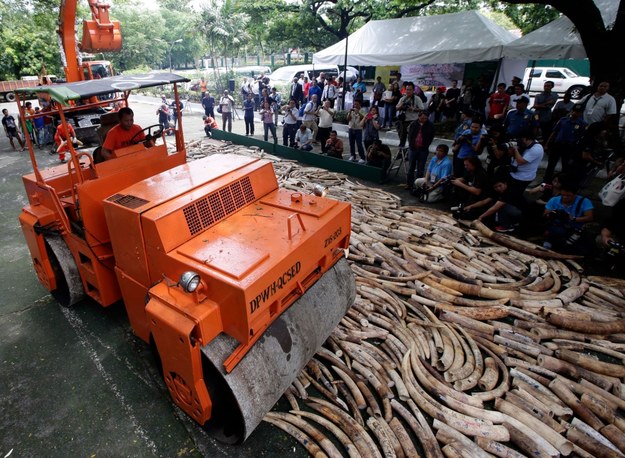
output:
[[[292, 48], [316, 51], [371, 19], [488, 8], [523, 33], [546, 24], [560, 12], [566, 14], [582, 34], [591, 68], [602, 72], [603, 64], [597, 59], [606, 57], [610, 48], [606, 43], [621, 42], [618, 38], [624, 27], [617, 23], [605, 30], [598, 22], [600, 13], [593, 0], [211, 0], [199, 10], [190, 0], [157, 0], [152, 8], [137, 8], [138, 1], [116, 0], [110, 10], [121, 22], [124, 45], [121, 52], [104, 57], [120, 71], [167, 68], [170, 53], [176, 67], [192, 65], [203, 56], [282, 54]], [[0, 4], [0, 78], [38, 74], [43, 65], [48, 73], [61, 73], [56, 39], [59, 3], [5, 0]], [[89, 16], [83, 0], [78, 26]]]

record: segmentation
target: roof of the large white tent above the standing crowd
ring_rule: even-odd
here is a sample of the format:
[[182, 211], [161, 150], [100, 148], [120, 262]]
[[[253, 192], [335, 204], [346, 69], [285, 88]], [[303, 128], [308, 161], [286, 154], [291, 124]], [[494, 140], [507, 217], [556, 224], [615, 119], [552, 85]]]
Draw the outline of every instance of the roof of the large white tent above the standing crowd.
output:
[[[347, 39], [348, 65], [451, 64], [499, 59], [516, 37], [477, 11], [370, 21]], [[313, 55], [343, 64], [346, 40]]]

